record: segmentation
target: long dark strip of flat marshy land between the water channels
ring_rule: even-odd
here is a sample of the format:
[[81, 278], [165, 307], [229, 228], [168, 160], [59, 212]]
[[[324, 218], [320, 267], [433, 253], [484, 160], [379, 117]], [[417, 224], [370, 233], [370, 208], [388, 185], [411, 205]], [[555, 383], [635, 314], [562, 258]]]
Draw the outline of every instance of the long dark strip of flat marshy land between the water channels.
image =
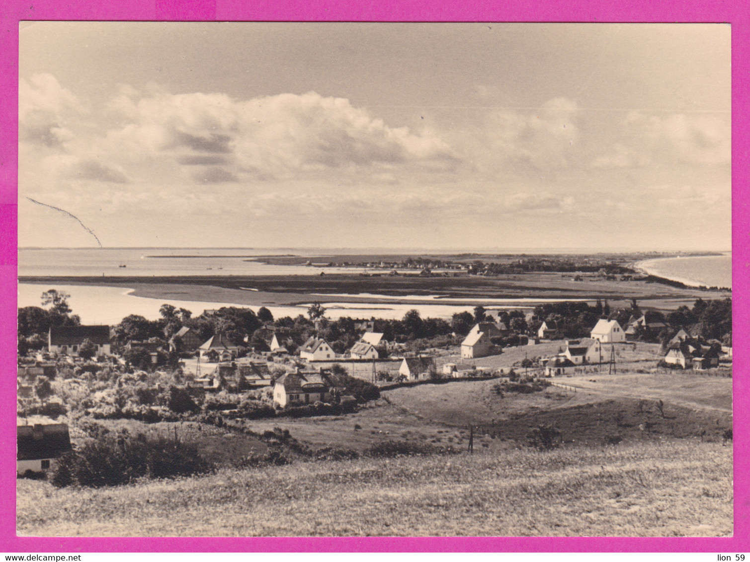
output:
[[[313, 301], [336, 300], [348, 303], [425, 304], [410, 300], [418, 295], [439, 295], [433, 304], [483, 304], [492, 306], [491, 299], [535, 298], [544, 300], [578, 299], [607, 300], [612, 306], [629, 305], [632, 298], [658, 309], [676, 309], [703, 299], [730, 297], [728, 291], [700, 291], [696, 288], [675, 288], [655, 282], [607, 281], [583, 274], [583, 281], [574, 281], [574, 274], [529, 273], [480, 277], [419, 277], [417, 275], [362, 277], [358, 274], [287, 276], [194, 276], [194, 277], [20, 277], [19, 282], [65, 283], [67, 285], [116, 286], [134, 289], [139, 297], [232, 302], [248, 306], [287, 306]], [[248, 290], [248, 289], [257, 289]], [[359, 293], [381, 294], [381, 298], [357, 297]], [[332, 296], [321, 294], [346, 294]], [[388, 297], [398, 297], [390, 299]], [[466, 299], [471, 299], [467, 301]], [[487, 299], [487, 300], [482, 300]]]

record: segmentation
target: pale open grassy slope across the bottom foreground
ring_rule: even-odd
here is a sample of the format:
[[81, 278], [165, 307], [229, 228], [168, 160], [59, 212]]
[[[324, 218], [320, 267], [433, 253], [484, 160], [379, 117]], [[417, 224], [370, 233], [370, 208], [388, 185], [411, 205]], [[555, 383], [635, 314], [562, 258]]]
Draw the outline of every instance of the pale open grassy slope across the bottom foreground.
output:
[[696, 439], [298, 462], [111, 489], [18, 481], [36, 536], [725, 536], [732, 447]]

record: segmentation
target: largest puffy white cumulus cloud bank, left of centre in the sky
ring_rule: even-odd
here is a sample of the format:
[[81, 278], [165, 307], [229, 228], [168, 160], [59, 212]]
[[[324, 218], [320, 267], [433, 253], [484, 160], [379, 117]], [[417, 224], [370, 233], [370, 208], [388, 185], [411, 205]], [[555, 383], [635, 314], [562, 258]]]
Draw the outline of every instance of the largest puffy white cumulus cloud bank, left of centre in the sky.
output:
[[238, 178], [456, 162], [438, 136], [389, 127], [344, 98], [308, 92], [242, 101], [224, 94], [157, 92], [133, 99], [138, 95], [121, 91], [110, 103], [130, 119], [110, 131], [113, 142], [138, 145], [185, 166], [231, 164]]

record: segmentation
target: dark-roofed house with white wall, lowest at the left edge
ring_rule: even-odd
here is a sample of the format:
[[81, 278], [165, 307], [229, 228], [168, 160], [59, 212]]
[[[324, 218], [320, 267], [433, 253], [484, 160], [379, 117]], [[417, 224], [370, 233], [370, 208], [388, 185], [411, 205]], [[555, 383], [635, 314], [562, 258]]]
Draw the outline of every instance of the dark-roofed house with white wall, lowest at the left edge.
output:
[[34, 416], [17, 420], [18, 474], [45, 472], [53, 468], [55, 460], [71, 450], [68, 425], [49, 418]]

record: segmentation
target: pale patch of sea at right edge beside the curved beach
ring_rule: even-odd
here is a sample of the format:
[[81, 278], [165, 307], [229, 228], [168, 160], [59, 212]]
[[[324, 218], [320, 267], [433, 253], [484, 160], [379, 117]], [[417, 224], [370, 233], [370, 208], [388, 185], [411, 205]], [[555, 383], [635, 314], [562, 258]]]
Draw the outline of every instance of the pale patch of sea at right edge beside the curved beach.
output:
[[732, 286], [732, 256], [649, 259], [638, 264], [649, 274], [681, 281], [685, 285]]

